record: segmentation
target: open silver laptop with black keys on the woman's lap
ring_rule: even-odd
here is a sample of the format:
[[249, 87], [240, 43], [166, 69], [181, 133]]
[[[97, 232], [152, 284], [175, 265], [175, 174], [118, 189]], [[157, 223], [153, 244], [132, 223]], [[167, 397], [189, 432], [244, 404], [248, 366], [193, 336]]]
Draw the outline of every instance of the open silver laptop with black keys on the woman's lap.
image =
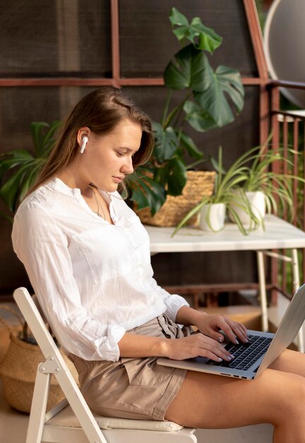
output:
[[255, 379], [267, 368], [296, 337], [305, 320], [305, 284], [294, 294], [275, 334], [248, 330], [249, 343], [246, 345], [224, 344], [234, 355], [231, 362], [214, 362], [206, 357], [184, 360], [157, 359], [158, 364], [210, 374]]

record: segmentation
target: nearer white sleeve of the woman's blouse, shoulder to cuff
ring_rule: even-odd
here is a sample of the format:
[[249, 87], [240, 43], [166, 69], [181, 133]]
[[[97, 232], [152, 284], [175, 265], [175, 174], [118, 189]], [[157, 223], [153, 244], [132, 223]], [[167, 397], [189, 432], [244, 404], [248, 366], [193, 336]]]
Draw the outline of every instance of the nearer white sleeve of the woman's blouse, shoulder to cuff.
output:
[[88, 315], [73, 276], [68, 238], [52, 217], [34, 205], [23, 208], [15, 218], [12, 237], [59, 343], [83, 359], [119, 359], [117, 342], [125, 329]]

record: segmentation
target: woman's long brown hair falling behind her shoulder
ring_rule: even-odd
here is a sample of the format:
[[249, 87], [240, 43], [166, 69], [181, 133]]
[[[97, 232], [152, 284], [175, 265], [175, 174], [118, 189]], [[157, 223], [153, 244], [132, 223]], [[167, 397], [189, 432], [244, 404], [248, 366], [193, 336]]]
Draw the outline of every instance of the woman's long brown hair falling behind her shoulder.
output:
[[77, 134], [81, 127], [88, 127], [95, 134], [107, 134], [125, 118], [137, 122], [142, 129], [140, 149], [133, 156], [133, 168], [148, 161], [153, 148], [152, 127], [148, 115], [120, 89], [105, 86], [83, 97], [71, 111], [61, 127], [47, 162], [28, 194], [71, 163], [79, 149]]

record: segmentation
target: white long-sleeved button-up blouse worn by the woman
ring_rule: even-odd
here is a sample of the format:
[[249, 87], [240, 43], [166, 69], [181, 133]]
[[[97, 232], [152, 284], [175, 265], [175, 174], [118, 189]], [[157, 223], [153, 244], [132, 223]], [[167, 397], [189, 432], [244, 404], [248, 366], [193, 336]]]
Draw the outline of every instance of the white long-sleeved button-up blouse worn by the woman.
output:
[[12, 238], [64, 349], [86, 360], [116, 361], [126, 330], [161, 313], [175, 321], [188, 304], [152, 278], [140, 219], [118, 192], [101, 194], [114, 224], [92, 212], [79, 189], [55, 178], [21, 203]]

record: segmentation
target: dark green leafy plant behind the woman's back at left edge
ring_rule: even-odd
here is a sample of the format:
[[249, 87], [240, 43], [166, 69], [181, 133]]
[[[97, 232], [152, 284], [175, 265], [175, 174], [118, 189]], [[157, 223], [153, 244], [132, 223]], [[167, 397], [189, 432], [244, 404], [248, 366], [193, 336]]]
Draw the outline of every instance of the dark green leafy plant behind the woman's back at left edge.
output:
[[60, 122], [49, 125], [46, 122], [32, 122], [30, 132], [33, 153], [16, 149], [0, 155], [0, 197], [11, 212], [35, 182], [37, 173], [43, 166], [54, 144], [54, 135]]

